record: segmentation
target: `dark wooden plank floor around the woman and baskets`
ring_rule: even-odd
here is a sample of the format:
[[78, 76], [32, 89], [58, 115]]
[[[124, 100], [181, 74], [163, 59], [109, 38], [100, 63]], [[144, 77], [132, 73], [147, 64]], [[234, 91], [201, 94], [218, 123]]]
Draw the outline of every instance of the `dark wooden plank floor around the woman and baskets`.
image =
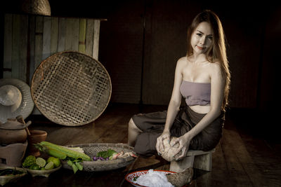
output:
[[[80, 127], [56, 125], [44, 116], [30, 116], [26, 120], [32, 120], [30, 129], [46, 130], [46, 141], [55, 144], [126, 143], [128, 122], [133, 114], [165, 109], [166, 106], [144, 106], [140, 110], [136, 104], [110, 104], [94, 123]], [[194, 179], [188, 186], [281, 186], [280, 142], [268, 143], [263, 137], [249, 133], [250, 130], [245, 131], [238, 124], [241, 120], [236, 113], [230, 110], [226, 116], [223, 137], [213, 154], [212, 172], [195, 169]], [[133, 164], [117, 171], [119, 175], [113, 172], [72, 174], [72, 171], [65, 169], [60, 179], [56, 176], [41, 181], [32, 179], [30, 182], [24, 181], [22, 185], [40, 183], [40, 186], [54, 186], [56, 180], [60, 182], [55, 186], [131, 186], [124, 176], [141, 169], [169, 169], [169, 162], [155, 156], [138, 158]], [[115, 185], [107, 177], [112, 177], [111, 181], [115, 180]]]

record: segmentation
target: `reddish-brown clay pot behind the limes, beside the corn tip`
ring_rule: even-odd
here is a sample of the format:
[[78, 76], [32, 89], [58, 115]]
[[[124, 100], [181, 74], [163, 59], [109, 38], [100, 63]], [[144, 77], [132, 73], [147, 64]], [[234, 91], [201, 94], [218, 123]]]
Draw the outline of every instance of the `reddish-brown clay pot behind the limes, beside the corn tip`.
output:
[[47, 137], [47, 132], [44, 130], [30, 130], [30, 135], [27, 137], [28, 146], [27, 153], [28, 155], [39, 156], [40, 151], [34, 146], [34, 144], [45, 141]]

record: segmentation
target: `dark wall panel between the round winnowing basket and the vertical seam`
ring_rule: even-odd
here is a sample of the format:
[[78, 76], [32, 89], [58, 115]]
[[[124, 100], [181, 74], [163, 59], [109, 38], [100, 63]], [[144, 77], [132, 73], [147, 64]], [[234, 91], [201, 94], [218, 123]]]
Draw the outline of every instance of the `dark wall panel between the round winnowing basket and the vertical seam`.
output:
[[138, 103], [141, 99], [144, 2], [118, 1], [100, 27], [100, 62], [112, 81], [111, 102]]

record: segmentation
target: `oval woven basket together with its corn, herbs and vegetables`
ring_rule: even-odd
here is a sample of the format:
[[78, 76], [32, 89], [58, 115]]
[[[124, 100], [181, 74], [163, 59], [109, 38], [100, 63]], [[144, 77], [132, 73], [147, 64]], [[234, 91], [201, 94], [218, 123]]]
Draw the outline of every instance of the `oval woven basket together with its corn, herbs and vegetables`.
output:
[[60, 146], [48, 141], [35, 145], [40, 151], [60, 158], [66, 169], [99, 172], [126, 167], [137, 157], [126, 144], [96, 143]]

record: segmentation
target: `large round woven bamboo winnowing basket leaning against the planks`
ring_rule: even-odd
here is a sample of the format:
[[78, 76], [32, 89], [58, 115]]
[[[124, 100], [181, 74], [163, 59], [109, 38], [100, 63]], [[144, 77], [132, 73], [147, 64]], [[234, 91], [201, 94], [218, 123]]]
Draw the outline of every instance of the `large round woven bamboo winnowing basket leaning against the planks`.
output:
[[112, 92], [110, 76], [100, 62], [74, 51], [42, 61], [32, 77], [37, 109], [60, 125], [91, 123], [105, 110]]

